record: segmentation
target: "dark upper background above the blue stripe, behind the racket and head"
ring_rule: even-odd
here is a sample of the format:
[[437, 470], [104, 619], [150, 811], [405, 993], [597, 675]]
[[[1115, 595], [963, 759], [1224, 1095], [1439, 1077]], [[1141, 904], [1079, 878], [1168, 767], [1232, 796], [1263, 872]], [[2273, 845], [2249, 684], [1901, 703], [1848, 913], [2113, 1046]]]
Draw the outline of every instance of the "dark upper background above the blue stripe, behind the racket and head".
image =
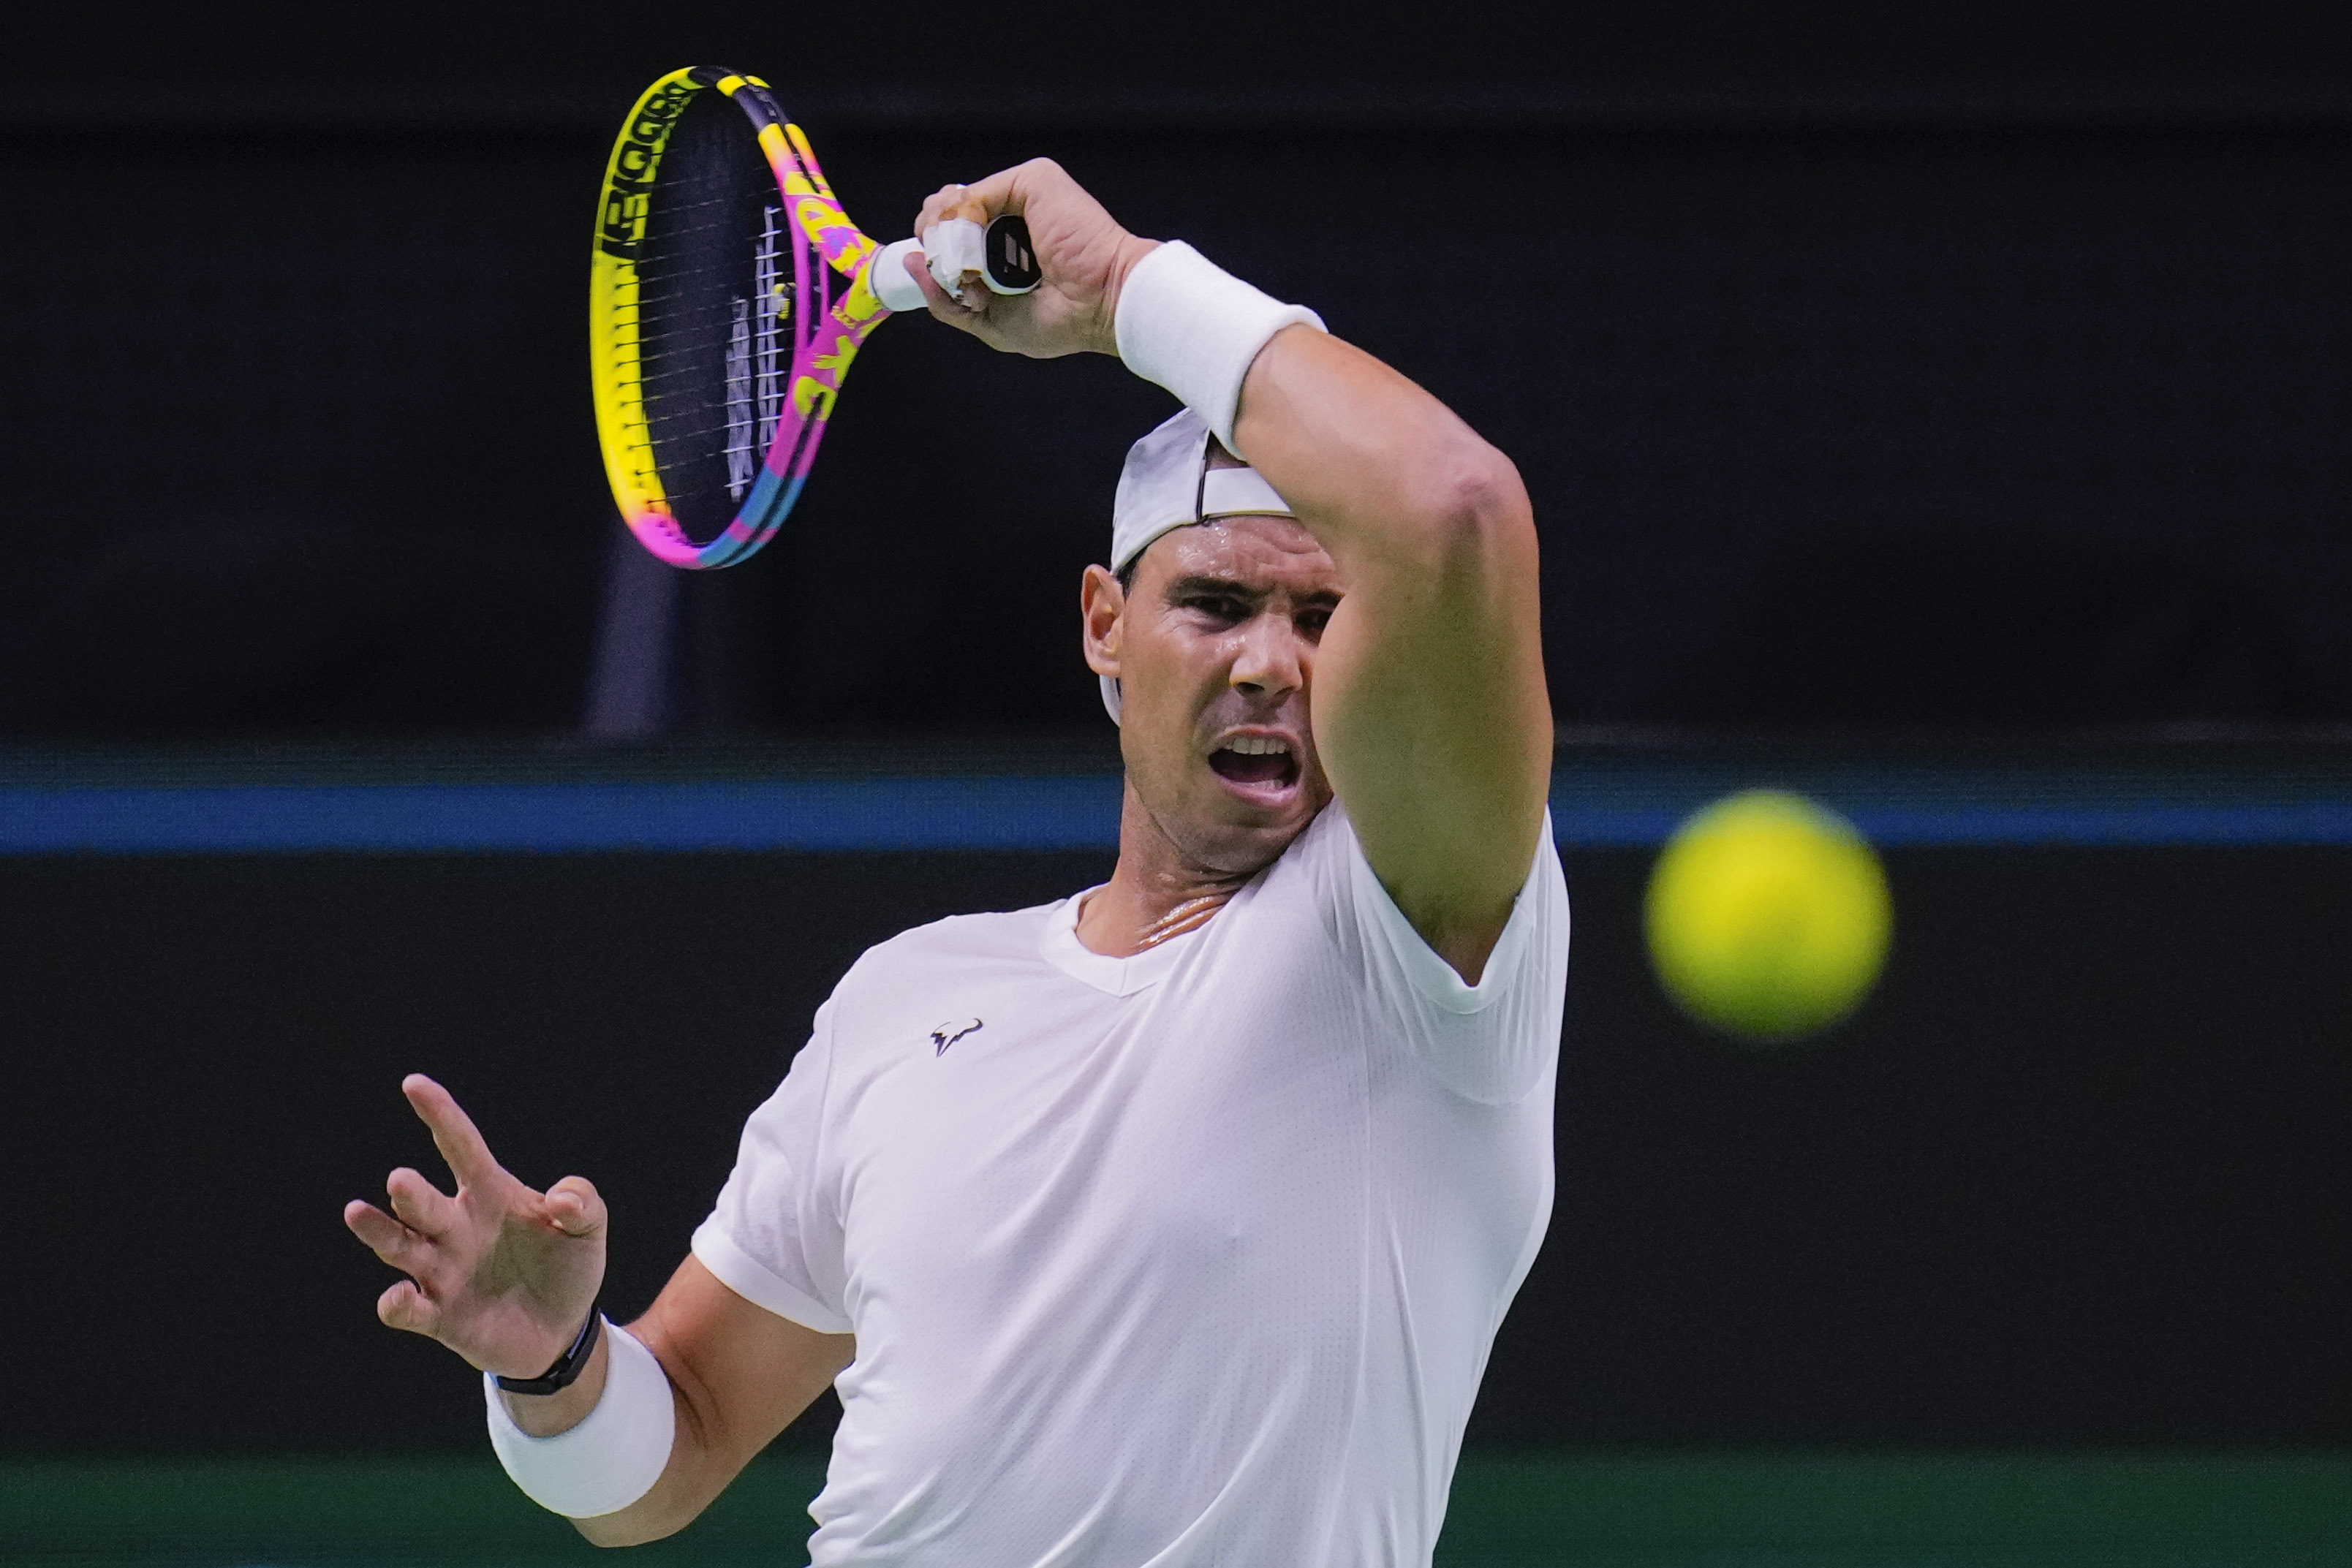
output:
[[[579, 724], [586, 212], [699, 56], [877, 235], [1051, 153], [1423, 378], [1526, 475], [1566, 722], [2352, 717], [2340, 12], [1150, 14], [12, 24], [0, 731]], [[884, 329], [786, 536], [682, 585], [668, 724], [1091, 722], [1073, 585], [1169, 407]]]

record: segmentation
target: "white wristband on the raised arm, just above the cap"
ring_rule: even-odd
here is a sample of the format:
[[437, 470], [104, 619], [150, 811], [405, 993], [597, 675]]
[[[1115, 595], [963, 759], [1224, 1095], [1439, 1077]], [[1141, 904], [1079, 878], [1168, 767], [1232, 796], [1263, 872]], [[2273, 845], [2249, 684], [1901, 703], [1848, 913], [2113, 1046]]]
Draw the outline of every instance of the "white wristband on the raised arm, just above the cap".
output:
[[1209, 421], [1225, 451], [1242, 456], [1232, 444], [1242, 376], [1265, 341], [1294, 322], [1324, 329], [1305, 306], [1284, 306], [1183, 240], [1169, 240], [1120, 284], [1112, 331], [1127, 369], [1176, 393]]

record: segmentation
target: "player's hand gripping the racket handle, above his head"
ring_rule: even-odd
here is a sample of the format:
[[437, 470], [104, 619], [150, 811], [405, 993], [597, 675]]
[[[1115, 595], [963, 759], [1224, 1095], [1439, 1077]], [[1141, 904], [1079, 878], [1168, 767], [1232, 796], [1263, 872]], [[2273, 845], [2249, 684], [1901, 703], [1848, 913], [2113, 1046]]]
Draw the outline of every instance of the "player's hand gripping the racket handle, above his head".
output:
[[985, 226], [1007, 212], [1028, 221], [1044, 280], [1028, 294], [990, 294], [985, 284], [974, 282], [957, 299], [910, 256], [908, 273], [922, 284], [931, 315], [990, 348], [1030, 360], [1120, 353], [1112, 331], [1120, 284], [1160, 242], [1120, 228], [1117, 219], [1051, 158], [1033, 158], [976, 186], [938, 188], [915, 216], [915, 235], [929, 233], [941, 219], [974, 219]]

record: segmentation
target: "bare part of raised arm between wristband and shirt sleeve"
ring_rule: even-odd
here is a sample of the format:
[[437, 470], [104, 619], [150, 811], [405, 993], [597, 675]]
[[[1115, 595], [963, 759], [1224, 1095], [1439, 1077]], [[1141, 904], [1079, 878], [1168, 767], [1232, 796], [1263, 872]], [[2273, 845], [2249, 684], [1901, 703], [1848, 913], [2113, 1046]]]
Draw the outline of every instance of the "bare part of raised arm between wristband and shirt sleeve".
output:
[[1397, 907], [1475, 976], [1526, 882], [1552, 766], [1519, 473], [1312, 327], [1284, 327], [1251, 362], [1235, 444], [1348, 585], [1315, 661], [1331, 788]]

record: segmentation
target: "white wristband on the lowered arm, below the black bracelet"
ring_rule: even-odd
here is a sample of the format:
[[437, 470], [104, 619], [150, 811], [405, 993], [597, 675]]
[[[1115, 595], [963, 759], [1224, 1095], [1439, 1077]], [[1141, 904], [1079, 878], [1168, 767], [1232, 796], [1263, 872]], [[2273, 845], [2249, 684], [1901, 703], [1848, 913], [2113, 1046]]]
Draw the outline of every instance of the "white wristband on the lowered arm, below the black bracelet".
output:
[[588, 1420], [555, 1436], [532, 1436], [506, 1413], [499, 1382], [489, 1396], [489, 1446], [522, 1495], [564, 1519], [619, 1514], [654, 1490], [677, 1439], [670, 1375], [637, 1335], [604, 1319], [604, 1392]]

